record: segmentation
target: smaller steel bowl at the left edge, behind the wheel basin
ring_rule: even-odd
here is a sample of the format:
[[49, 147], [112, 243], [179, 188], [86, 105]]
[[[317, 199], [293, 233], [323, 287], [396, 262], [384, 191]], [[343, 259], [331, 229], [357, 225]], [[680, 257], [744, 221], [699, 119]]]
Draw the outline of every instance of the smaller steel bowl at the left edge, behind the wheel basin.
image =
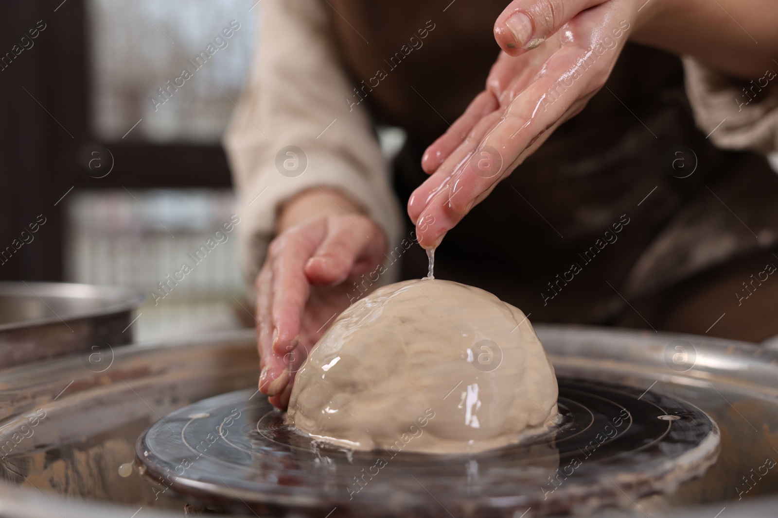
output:
[[0, 366], [129, 343], [142, 300], [119, 287], [0, 282]]

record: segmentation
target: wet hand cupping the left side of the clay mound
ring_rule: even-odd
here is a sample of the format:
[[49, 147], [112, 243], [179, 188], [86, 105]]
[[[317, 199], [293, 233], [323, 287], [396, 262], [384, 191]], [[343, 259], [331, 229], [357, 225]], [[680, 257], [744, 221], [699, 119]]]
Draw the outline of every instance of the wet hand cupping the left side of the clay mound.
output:
[[257, 339], [259, 389], [273, 405], [286, 408], [296, 370], [328, 325], [362, 293], [352, 284], [383, 260], [387, 238], [334, 191], [304, 194], [279, 221], [280, 233], [256, 281]]

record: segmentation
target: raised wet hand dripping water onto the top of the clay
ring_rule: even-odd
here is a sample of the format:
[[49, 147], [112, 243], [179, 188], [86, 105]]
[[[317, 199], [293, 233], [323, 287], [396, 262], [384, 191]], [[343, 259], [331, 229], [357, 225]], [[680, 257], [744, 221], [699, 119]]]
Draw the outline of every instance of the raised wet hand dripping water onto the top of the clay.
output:
[[427, 148], [431, 176], [408, 200], [433, 248], [500, 180], [605, 85], [645, 0], [517, 0], [498, 17], [503, 51], [486, 89]]

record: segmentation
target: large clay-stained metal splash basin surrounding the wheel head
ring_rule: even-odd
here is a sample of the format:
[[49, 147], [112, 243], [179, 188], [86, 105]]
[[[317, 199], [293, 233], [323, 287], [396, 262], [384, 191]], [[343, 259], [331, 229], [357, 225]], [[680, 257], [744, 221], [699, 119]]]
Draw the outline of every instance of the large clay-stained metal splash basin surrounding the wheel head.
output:
[[[625, 496], [607, 516], [713, 518], [724, 507], [720, 518], [773, 516], [778, 470], [765, 460], [778, 459], [778, 352], [693, 335], [536, 329], [559, 376], [681, 398], [720, 427], [721, 454], [703, 477], [636, 502]], [[0, 371], [0, 516], [128, 518], [140, 508], [142, 516], [181, 516], [186, 500], [129, 470], [135, 440], [177, 408], [255, 388], [254, 340], [247, 330], [124, 346], [100, 373], [79, 356]], [[447, 516], [436, 506], [430, 497], [429, 516]]]

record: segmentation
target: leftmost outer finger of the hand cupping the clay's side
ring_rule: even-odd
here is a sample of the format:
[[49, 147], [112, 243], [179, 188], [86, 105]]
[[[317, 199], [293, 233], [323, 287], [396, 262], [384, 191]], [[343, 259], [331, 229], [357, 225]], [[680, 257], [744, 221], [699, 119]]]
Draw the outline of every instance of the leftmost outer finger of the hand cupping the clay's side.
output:
[[[286, 363], [272, 347], [272, 270], [269, 264], [263, 267], [257, 277], [257, 344], [259, 349], [259, 390], [264, 394], [278, 393], [283, 381]], [[288, 377], [288, 375], [287, 375]], [[277, 381], [277, 380], [281, 381]]]

